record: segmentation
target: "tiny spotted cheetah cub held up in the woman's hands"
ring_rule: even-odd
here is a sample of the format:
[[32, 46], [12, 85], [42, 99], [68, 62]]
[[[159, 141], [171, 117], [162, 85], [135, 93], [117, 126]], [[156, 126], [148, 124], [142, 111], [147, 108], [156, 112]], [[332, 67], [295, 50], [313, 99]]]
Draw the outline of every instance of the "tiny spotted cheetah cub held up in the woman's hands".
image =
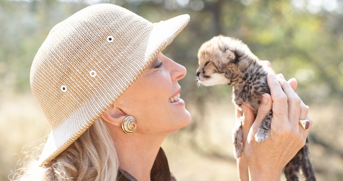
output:
[[[246, 104], [257, 115], [262, 94], [270, 94], [267, 74], [272, 70], [262, 66], [247, 45], [230, 37], [216, 36], [202, 44], [198, 51], [198, 59], [199, 68], [196, 76], [199, 84], [232, 85], [235, 106], [242, 110], [242, 104]], [[272, 116], [273, 112], [270, 110], [255, 135], [257, 142], [269, 137]], [[242, 121], [243, 117], [239, 118], [240, 124], [235, 126], [232, 134], [235, 158], [241, 157], [243, 151]], [[308, 139], [306, 139], [306, 145], [286, 165], [284, 173], [287, 181], [298, 181], [300, 167], [306, 181], [316, 180], [310, 162]]]

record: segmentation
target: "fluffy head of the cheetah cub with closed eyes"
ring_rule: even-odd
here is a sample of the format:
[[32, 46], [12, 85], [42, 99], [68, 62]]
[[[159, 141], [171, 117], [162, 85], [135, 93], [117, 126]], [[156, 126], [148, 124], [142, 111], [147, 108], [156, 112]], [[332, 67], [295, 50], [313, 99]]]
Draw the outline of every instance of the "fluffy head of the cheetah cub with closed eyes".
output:
[[[240, 40], [222, 35], [202, 44], [198, 51], [198, 81], [205, 85], [231, 84], [246, 55], [252, 54]], [[199, 83], [198, 82], [198, 83]]]

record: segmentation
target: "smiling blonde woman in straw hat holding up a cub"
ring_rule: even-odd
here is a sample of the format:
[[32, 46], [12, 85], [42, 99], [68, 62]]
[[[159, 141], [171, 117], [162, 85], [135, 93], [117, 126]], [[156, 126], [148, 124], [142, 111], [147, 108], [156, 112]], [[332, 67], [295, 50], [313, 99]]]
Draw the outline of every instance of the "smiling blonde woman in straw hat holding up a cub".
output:
[[[153, 24], [119, 6], [97, 4], [57, 24], [30, 72], [33, 95], [52, 131], [38, 162], [15, 179], [174, 180], [160, 147], [190, 122], [177, 83], [186, 69], [161, 51], [188, 21], [181, 15]], [[296, 81], [278, 76], [281, 86], [268, 75], [271, 95], [264, 95], [256, 119], [248, 107], [237, 112], [245, 117], [242, 180], [279, 180], [305, 144], [309, 129], [298, 120], [310, 120], [308, 108], [292, 90]], [[271, 136], [256, 144], [251, 135], [272, 105], [277, 115]]]

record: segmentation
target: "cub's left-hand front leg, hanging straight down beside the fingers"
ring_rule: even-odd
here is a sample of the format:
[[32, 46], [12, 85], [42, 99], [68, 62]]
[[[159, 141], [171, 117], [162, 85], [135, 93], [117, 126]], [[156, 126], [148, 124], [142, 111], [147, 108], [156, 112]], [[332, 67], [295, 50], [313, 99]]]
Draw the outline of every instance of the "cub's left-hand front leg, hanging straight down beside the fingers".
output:
[[242, 122], [243, 116], [236, 120], [236, 125], [234, 130], [232, 131], [232, 142], [234, 143], [234, 155], [235, 158], [240, 158], [242, 156], [242, 141], [243, 141], [243, 133], [242, 133]]

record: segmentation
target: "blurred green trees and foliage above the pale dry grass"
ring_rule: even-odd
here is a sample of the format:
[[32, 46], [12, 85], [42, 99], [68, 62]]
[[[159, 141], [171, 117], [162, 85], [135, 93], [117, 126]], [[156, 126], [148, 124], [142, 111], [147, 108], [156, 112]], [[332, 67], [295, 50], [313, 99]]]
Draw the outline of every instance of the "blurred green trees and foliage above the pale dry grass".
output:
[[92, 3], [109, 2], [158, 22], [191, 20], [165, 50], [185, 65], [190, 101], [220, 99], [230, 87], [196, 90], [197, 50], [223, 34], [243, 40], [275, 72], [299, 82], [307, 103], [343, 100], [343, 0], [0, 0], [0, 92], [29, 91], [29, 70], [50, 29]]

